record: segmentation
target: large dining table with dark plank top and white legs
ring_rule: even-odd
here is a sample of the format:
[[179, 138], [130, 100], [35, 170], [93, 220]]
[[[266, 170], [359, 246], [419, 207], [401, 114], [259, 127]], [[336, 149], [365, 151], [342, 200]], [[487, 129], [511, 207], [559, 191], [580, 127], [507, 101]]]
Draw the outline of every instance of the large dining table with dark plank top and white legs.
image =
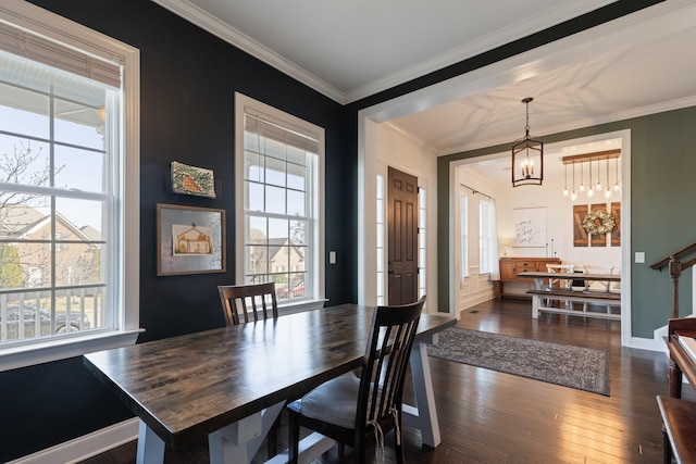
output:
[[[288, 400], [359, 368], [374, 308], [339, 304], [88, 353], [84, 365], [139, 418], [138, 463], [162, 463], [208, 436], [211, 463], [251, 462]], [[440, 442], [426, 347], [455, 326], [447, 313], [423, 313], [410, 356], [415, 405], [405, 425], [423, 444]], [[319, 434], [300, 443], [300, 462], [334, 444]], [[287, 462], [287, 451], [269, 456]]]

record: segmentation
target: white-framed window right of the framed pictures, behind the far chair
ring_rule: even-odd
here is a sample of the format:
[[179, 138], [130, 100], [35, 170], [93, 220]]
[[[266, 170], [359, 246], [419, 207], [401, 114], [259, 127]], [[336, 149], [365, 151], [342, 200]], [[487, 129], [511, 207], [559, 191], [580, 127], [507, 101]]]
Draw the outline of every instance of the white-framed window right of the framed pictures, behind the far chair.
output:
[[323, 299], [324, 130], [236, 93], [237, 275], [278, 304]]

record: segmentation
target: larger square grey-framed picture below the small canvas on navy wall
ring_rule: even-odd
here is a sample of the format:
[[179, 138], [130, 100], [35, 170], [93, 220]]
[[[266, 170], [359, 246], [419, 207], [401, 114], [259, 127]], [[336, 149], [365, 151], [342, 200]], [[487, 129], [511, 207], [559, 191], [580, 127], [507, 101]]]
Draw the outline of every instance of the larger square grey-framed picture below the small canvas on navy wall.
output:
[[157, 275], [225, 272], [225, 211], [157, 205]]

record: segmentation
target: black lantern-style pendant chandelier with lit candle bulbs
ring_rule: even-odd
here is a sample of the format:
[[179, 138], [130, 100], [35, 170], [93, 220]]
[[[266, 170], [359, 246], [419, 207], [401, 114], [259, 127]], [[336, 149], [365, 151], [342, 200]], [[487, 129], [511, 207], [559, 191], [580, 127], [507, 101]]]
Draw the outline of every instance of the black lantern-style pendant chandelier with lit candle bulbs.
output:
[[544, 180], [544, 142], [530, 136], [530, 102], [533, 100], [532, 97], [522, 100], [526, 105], [526, 125], [524, 138], [512, 143], [512, 187], [542, 185]]

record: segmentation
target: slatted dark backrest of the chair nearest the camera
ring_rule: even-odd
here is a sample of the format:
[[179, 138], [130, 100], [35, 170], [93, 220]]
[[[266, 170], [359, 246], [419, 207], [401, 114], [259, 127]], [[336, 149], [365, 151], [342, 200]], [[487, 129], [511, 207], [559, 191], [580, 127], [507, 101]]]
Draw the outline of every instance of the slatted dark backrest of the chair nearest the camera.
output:
[[356, 426], [396, 421], [401, 411], [403, 379], [425, 297], [415, 303], [377, 306], [362, 359]]

